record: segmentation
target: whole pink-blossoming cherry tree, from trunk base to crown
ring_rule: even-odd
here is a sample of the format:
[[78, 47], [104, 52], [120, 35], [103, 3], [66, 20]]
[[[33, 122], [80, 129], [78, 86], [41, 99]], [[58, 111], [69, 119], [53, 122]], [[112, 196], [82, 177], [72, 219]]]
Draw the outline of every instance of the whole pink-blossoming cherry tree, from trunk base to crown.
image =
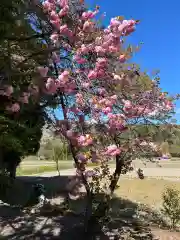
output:
[[[68, 0], [43, 1], [42, 9], [52, 27], [44, 44], [52, 51], [48, 64], [37, 68], [40, 90], [59, 100], [63, 119], [55, 116], [56, 133], [70, 146], [76, 178], [87, 193], [86, 220], [92, 224], [104, 217], [119, 177], [131, 170], [132, 160], [141, 152], [157, 150], [149, 135], [139, 137], [135, 126], [168, 120], [174, 105], [156, 79], [144, 89], [141, 73], [123, 68], [134, 51], [124, 48], [124, 39], [139, 21], [114, 17], [102, 28], [96, 20], [99, 6], [78, 11], [72, 21]], [[12, 88], [5, 92], [10, 96]], [[6, 109], [18, 112], [20, 105]], [[112, 159], [114, 172], [108, 166]], [[89, 170], [89, 161], [100, 167]], [[104, 198], [94, 211], [95, 194], [102, 192]]]

